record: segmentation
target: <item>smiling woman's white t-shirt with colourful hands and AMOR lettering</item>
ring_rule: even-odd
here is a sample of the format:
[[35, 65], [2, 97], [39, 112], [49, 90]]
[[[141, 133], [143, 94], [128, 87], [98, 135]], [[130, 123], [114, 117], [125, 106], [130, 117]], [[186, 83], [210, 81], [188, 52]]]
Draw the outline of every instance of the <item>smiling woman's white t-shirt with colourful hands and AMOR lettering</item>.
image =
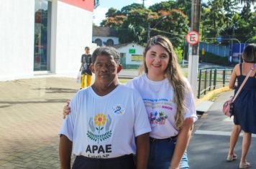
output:
[[[187, 81], [186, 81], [187, 82]], [[189, 85], [189, 83], [187, 82]], [[168, 79], [152, 81], [146, 74], [136, 77], [127, 83], [128, 87], [137, 90], [145, 103], [152, 131], [150, 137], [164, 139], [178, 135], [175, 127], [176, 104], [173, 102], [173, 87]], [[184, 118], [197, 120], [193, 92], [185, 93]]]

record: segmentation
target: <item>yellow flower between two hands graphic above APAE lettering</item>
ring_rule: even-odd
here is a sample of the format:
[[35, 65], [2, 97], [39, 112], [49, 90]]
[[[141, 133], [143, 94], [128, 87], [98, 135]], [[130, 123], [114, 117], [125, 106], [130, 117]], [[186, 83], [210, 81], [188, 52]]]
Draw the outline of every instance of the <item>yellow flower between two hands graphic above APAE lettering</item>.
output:
[[89, 120], [89, 127], [91, 131], [87, 131], [87, 137], [97, 143], [108, 139], [112, 135], [112, 131], [109, 130], [111, 121], [110, 115], [106, 117], [103, 113], [99, 113], [94, 117], [91, 117]]

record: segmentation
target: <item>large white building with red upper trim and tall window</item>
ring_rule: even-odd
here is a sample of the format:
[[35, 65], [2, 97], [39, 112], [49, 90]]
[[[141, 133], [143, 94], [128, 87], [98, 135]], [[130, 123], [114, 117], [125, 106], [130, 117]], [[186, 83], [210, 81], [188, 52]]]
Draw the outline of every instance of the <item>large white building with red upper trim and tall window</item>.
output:
[[78, 72], [93, 0], [1, 0], [0, 80]]

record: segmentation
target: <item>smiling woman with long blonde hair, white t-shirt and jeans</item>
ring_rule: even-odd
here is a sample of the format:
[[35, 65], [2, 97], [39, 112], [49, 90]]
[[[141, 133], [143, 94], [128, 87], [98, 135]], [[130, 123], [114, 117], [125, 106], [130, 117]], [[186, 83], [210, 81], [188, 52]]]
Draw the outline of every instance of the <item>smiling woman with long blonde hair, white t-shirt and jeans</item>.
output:
[[197, 120], [193, 92], [183, 76], [173, 45], [155, 36], [144, 52], [145, 74], [127, 83], [145, 103], [150, 120], [148, 169], [189, 168], [186, 148]]

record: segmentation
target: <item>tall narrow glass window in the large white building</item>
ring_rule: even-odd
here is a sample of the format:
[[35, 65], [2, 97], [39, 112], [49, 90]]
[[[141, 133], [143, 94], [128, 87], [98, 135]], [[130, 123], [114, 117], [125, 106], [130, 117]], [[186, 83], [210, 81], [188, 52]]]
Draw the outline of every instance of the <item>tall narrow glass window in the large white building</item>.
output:
[[34, 70], [50, 70], [50, 22], [52, 2], [35, 1]]

